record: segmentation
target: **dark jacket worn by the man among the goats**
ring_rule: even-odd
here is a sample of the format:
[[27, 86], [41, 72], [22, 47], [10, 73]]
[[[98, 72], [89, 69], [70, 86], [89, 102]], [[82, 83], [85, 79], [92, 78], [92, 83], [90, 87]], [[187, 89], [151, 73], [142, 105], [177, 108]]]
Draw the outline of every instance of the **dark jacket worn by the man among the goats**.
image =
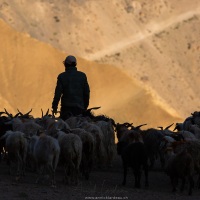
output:
[[87, 109], [90, 98], [90, 88], [85, 73], [77, 71], [76, 67], [66, 67], [65, 72], [58, 75], [53, 110], [57, 110], [61, 98], [61, 107], [79, 107]]

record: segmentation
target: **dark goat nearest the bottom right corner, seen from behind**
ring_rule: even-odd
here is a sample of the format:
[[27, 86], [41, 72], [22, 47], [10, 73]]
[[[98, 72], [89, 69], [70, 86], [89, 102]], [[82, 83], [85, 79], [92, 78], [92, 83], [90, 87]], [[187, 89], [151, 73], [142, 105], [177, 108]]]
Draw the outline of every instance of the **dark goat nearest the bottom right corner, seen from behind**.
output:
[[192, 194], [192, 189], [194, 188], [194, 160], [187, 149], [184, 149], [178, 154], [171, 155], [171, 157], [168, 159], [165, 172], [170, 177], [173, 192], [176, 192], [178, 179], [181, 179], [181, 192], [184, 190], [185, 181], [188, 180], [188, 194]]

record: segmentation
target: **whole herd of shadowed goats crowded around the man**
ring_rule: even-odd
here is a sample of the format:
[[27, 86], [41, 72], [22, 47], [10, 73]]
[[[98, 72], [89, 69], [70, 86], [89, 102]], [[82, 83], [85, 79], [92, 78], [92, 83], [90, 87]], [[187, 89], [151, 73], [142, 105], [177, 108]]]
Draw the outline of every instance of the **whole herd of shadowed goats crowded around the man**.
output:
[[16, 181], [31, 170], [38, 174], [37, 183], [48, 173], [55, 186], [58, 165], [65, 184], [78, 184], [80, 176], [88, 180], [93, 169], [111, 167], [118, 154], [124, 172], [122, 184], [126, 184], [127, 169], [132, 168], [135, 187], [140, 188], [142, 174], [148, 187], [148, 173], [159, 159], [173, 191], [179, 179], [181, 191], [187, 185], [189, 195], [194, 187], [200, 188], [200, 112], [176, 123], [172, 131], [173, 124], [141, 129], [146, 124], [116, 123], [105, 115], [94, 115], [94, 109], [65, 121], [49, 110], [34, 118], [32, 110], [26, 114], [18, 110], [13, 116], [4, 109], [0, 112], [1, 162], [7, 162]]

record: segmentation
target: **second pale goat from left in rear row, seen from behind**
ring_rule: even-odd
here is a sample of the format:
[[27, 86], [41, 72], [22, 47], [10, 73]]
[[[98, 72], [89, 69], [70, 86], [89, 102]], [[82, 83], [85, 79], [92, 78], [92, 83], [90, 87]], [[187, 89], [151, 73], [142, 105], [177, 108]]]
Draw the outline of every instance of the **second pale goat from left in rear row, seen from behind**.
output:
[[58, 141], [55, 138], [42, 133], [36, 141], [33, 150], [33, 156], [38, 171], [36, 183], [39, 183], [41, 175], [47, 170], [51, 175], [51, 186], [55, 187], [55, 171], [59, 161], [59, 155], [60, 146]]

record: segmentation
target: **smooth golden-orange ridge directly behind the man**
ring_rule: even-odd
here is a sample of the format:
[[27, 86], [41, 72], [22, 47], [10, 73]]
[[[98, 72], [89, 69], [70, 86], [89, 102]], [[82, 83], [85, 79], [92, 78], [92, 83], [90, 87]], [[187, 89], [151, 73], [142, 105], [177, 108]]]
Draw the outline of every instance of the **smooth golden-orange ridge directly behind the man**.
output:
[[[0, 20], [0, 105], [12, 113], [17, 108], [40, 116], [51, 107], [57, 74], [63, 70], [65, 53], [14, 31]], [[157, 105], [152, 96], [119, 69], [78, 59], [78, 68], [88, 75], [92, 106], [117, 122], [149, 126], [168, 125], [179, 119]], [[154, 115], [152, 116], [152, 111]]]

